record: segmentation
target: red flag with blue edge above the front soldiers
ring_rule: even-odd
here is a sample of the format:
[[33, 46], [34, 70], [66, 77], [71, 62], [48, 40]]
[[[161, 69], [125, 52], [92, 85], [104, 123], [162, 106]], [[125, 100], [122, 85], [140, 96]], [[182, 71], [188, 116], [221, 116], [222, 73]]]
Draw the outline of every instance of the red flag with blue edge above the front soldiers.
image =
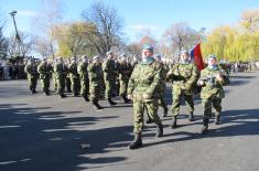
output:
[[191, 58], [194, 64], [197, 66], [198, 71], [202, 71], [205, 65], [203, 62], [203, 55], [201, 51], [201, 43], [198, 43], [192, 51], [191, 51]]

